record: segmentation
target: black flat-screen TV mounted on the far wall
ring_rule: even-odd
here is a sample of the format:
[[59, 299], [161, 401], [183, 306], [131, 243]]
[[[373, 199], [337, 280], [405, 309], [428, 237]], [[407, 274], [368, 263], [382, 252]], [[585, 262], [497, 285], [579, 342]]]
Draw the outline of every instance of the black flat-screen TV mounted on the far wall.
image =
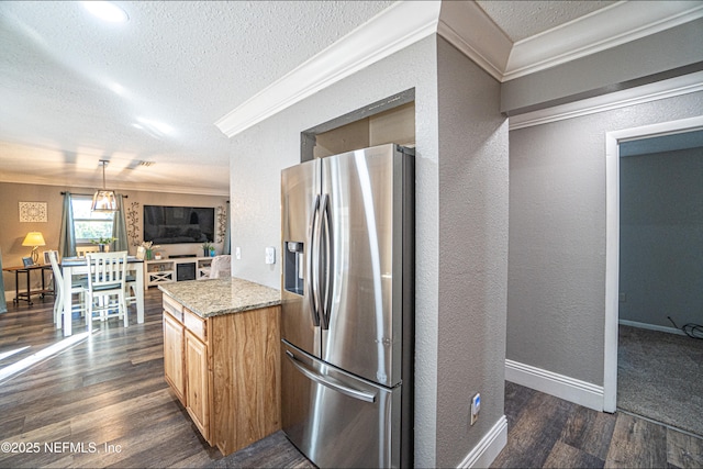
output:
[[215, 209], [144, 205], [144, 241], [155, 245], [212, 242]]

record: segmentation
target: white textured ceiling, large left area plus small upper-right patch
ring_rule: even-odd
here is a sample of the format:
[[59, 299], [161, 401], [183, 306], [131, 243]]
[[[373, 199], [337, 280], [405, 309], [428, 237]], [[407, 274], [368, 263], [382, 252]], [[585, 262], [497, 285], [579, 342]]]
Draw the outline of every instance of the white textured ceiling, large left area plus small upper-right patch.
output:
[[[392, 1], [0, 2], [0, 180], [228, 193], [214, 122]], [[613, 1], [479, 1], [520, 41]], [[154, 161], [150, 167], [141, 161]]]

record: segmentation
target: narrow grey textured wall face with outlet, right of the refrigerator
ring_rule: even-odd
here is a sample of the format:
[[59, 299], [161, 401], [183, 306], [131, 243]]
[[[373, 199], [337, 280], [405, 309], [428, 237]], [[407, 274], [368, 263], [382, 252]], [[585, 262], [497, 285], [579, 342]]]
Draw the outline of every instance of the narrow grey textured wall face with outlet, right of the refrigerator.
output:
[[[507, 120], [500, 83], [438, 42], [437, 466], [457, 467], [503, 415]], [[470, 402], [481, 413], [470, 426]]]

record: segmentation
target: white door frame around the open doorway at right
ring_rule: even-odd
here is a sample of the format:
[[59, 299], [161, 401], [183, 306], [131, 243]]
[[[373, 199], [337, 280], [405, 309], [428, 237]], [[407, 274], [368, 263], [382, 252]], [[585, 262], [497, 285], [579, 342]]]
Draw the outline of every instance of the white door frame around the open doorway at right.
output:
[[620, 143], [703, 130], [703, 116], [623, 129], [605, 134], [605, 337], [603, 411], [617, 405], [617, 324], [620, 293]]

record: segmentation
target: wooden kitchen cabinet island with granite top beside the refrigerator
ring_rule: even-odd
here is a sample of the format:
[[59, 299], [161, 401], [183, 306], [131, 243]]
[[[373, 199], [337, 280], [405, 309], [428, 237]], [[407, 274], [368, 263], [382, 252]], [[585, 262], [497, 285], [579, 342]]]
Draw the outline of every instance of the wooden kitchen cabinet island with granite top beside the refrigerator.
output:
[[237, 278], [158, 288], [165, 378], [204, 439], [226, 456], [280, 429], [280, 292]]

